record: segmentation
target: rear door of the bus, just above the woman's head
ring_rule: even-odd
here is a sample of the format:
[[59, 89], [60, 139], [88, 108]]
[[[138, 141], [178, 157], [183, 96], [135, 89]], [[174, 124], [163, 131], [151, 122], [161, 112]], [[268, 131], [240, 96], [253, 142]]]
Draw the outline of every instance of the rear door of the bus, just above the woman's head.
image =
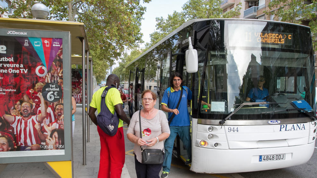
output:
[[144, 72], [145, 72], [145, 68], [143, 68], [142, 70], [139, 70], [139, 67], [136, 68], [135, 85], [134, 85], [135, 86], [134, 87], [135, 88], [134, 112], [143, 108], [141, 95], [142, 95], [142, 92], [144, 91]]

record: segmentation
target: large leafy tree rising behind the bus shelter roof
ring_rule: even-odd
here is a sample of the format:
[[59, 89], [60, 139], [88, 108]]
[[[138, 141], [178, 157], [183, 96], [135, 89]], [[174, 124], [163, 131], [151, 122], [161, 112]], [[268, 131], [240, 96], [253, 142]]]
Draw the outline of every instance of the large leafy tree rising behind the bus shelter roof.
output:
[[[150, 1], [143, 0], [144, 3]], [[13, 0], [11, 17], [32, 18], [31, 7], [38, 2], [50, 9], [48, 19], [85, 24], [94, 75], [100, 78], [105, 78], [105, 73], [100, 72], [112, 66], [125, 47], [135, 48], [142, 42], [140, 25], [146, 8], [140, 0]]]

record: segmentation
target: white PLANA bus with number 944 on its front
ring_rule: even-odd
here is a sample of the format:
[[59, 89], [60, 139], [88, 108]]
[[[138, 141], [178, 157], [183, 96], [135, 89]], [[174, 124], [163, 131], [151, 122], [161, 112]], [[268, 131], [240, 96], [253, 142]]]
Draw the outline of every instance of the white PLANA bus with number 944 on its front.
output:
[[[196, 60], [185, 59], [189, 41], [197, 50]], [[312, 156], [316, 139], [314, 60], [306, 26], [190, 20], [126, 67], [134, 84], [129, 110], [132, 114], [142, 107], [140, 93], [149, 82], [157, 85], [153, 91], [160, 109], [171, 74], [180, 72], [193, 98], [188, 102], [192, 171], [234, 173], [303, 164]], [[188, 73], [197, 63], [197, 72]], [[247, 101], [258, 80], [264, 80], [269, 95]], [[178, 138], [173, 153], [186, 159]]]

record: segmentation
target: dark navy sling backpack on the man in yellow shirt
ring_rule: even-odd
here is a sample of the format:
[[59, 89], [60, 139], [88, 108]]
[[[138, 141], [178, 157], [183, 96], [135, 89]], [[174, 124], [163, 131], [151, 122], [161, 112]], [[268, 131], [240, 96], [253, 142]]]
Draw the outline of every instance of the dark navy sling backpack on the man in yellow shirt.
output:
[[100, 129], [107, 135], [114, 136], [118, 131], [119, 118], [116, 111], [114, 111], [114, 114], [112, 114], [105, 103], [105, 98], [110, 88], [115, 87], [108, 86], [101, 94], [100, 112], [97, 116], [97, 123]]

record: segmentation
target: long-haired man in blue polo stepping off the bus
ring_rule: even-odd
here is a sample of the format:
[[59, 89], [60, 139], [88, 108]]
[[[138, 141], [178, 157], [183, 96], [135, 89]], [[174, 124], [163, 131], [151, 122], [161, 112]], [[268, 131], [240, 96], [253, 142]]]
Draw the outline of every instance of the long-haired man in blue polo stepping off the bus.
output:
[[[175, 113], [175, 117], [170, 123], [171, 134], [164, 143], [165, 158], [163, 162], [163, 173], [161, 175], [162, 178], [170, 174], [172, 150], [177, 135], [187, 150], [188, 159], [185, 164], [188, 165], [191, 163], [191, 135], [189, 132], [191, 122], [187, 110], [187, 99], [191, 100], [191, 90], [187, 86], [182, 86], [182, 83], [183, 76], [178, 72], [174, 73], [171, 76], [171, 87], [165, 90], [162, 98], [162, 110], [168, 112], [169, 121], [173, 113]], [[176, 108], [182, 90], [182, 99], [178, 108]]]

